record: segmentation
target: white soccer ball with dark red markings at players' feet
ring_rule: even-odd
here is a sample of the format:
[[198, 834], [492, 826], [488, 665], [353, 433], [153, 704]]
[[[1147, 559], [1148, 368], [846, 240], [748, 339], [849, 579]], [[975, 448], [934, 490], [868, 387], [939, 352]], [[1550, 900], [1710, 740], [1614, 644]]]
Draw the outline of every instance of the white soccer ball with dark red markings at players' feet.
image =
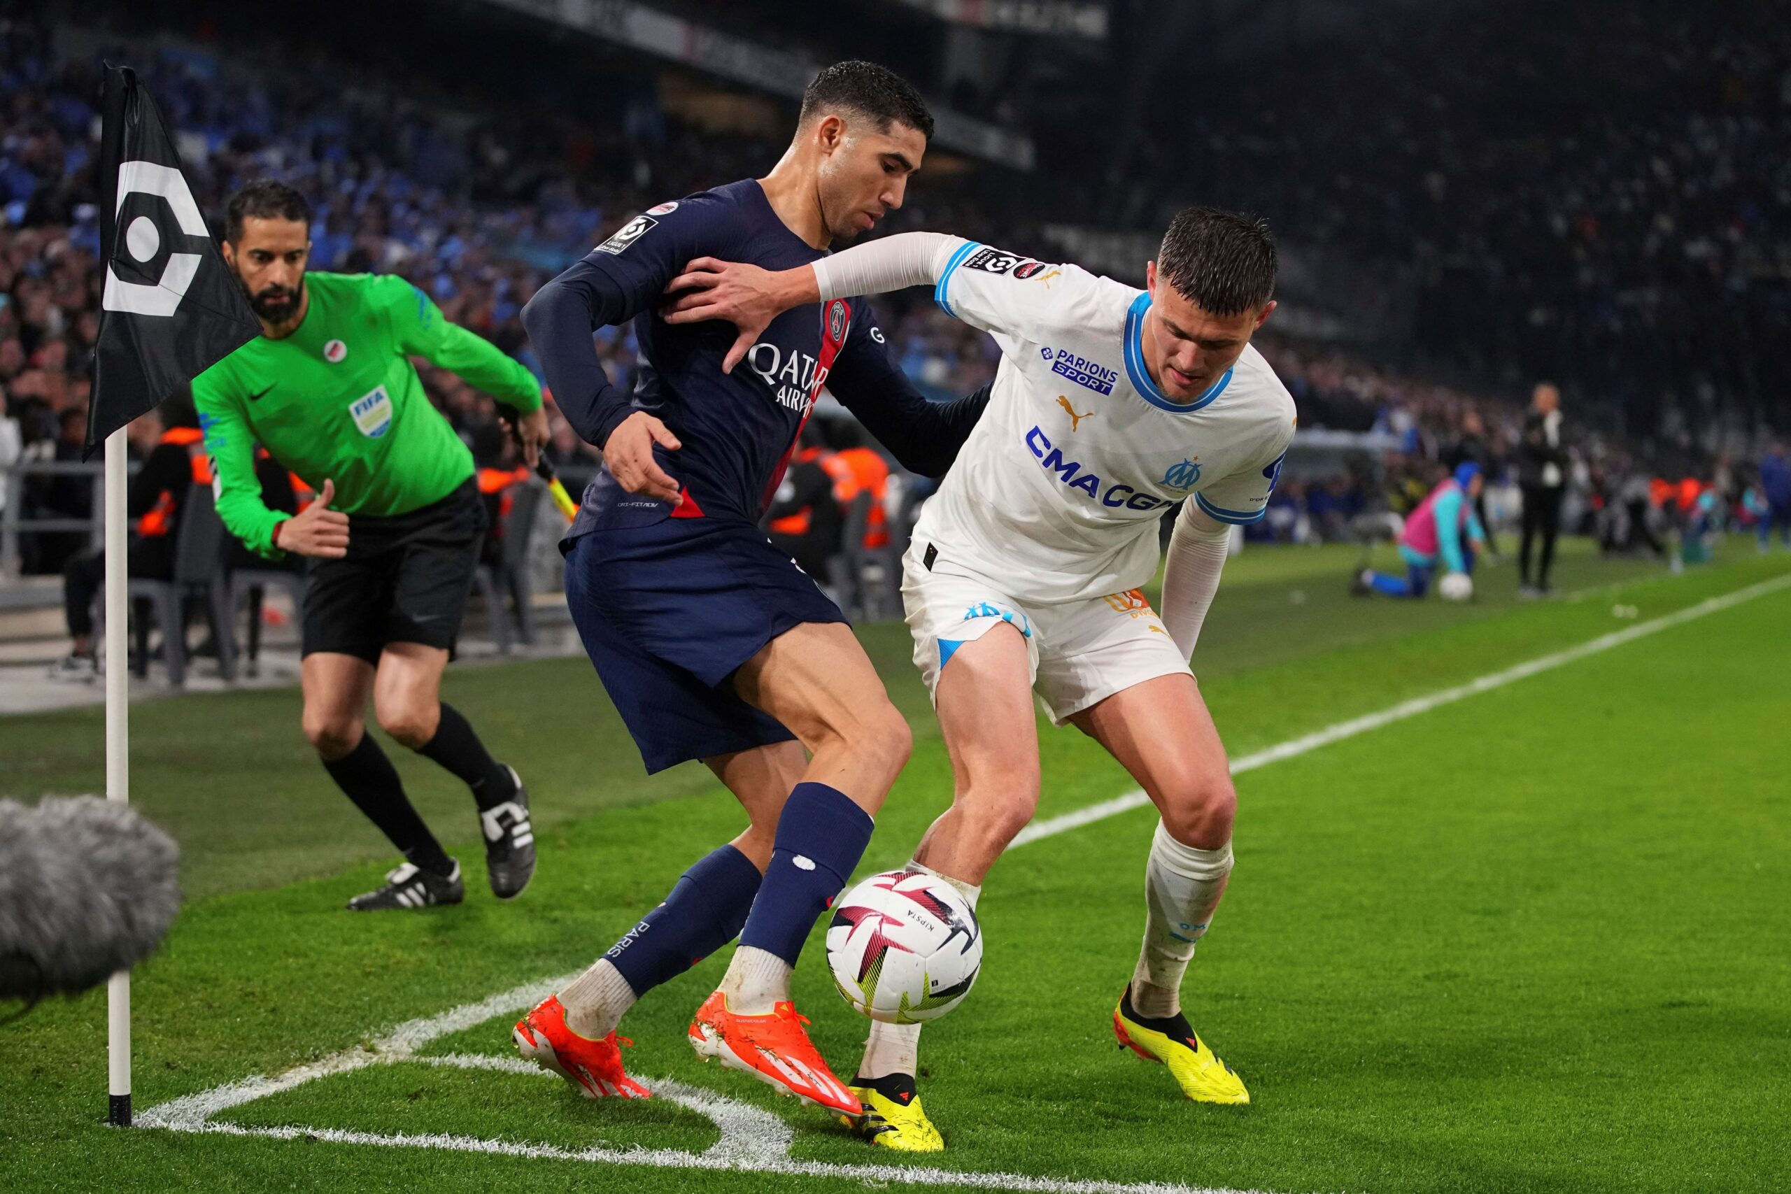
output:
[[890, 870], [840, 897], [827, 967], [845, 1002], [872, 1020], [919, 1024], [956, 1008], [983, 963], [983, 929], [956, 888]]

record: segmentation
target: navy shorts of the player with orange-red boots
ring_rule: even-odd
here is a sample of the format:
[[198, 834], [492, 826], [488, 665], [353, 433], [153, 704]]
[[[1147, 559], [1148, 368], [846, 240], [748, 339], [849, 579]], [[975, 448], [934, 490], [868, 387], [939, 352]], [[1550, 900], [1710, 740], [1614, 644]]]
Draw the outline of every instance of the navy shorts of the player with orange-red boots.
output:
[[666, 519], [561, 544], [566, 605], [647, 772], [795, 736], [734, 691], [749, 659], [840, 607], [758, 526]]

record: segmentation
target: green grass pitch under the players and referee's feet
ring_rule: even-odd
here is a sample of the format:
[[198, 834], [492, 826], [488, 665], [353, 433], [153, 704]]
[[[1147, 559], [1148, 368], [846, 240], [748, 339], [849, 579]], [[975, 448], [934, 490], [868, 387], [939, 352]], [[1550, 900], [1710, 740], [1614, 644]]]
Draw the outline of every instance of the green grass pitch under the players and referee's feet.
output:
[[[1495, 569], [1472, 605], [1395, 605], [1343, 594], [1352, 560], [1229, 566], [1198, 664], [1232, 757], [1791, 575], [1739, 542], [1680, 578], [1572, 551], [1571, 600], [1517, 605]], [[949, 768], [906, 630], [861, 637], [917, 743], [869, 872], [906, 857]], [[514, 1013], [344, 1063], [383, 1056], [401, 1022], [580, 968], [740, 825], [700, 768], [641, 775], [584, 661], [458, 668], [448, 695], [534, 793], [541, 868], [510, 906], [478, 881], [464, 791], [392, 748], [475, 883], [457, 909], [340, 911], [390, 857], [310, 757], [294, 691], [133, 709], [133, 798], [181, 840], [188, 895], [134, 979], [138, 1113], [340, 1072], [231, 1106], [222, 1131], [109, 1130], [104, 992], [39, 1006], [0, 1026], [0, 1190], [818, 1194], [915, 1164], [1066, 1192], [1791, 1183], [1791, 587], [1239, 775], [1238, 870], [1186, 1002], [1252, 1106], [1186, 1103], [1112, 1038], [1153, 814], [1015, 849], [981, 900], [983, 977], [922, 1036], [947, 1151], [921, 1162], [695, 1062], [682, 1029], [725, 954], [623, 1022], [630, 1070], [682, 1101], [593, 1103], [501, 1069]], [[0, 795], [100, 789], [100, 743], [99, 711], [0, 721]], [[1042, 750], [1041, 818], [1132, 788], [1073, 730], [1046, 727]], [[844, 1076], [865, 1024], [818, 938], [797, 1001]], [[263, 1130], [285, 1131], [244, 1135]], [[749, 1162], [786, 1151], [784, 1171], [664, 1164], [724, 1139]]]

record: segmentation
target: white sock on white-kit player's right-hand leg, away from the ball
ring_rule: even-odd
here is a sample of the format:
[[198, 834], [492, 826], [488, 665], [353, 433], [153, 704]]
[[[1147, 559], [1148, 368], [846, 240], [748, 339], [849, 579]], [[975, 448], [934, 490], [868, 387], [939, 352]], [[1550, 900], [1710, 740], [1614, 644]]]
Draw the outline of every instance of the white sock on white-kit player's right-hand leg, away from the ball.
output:
[[1182, 976], [1213, 924], [1230, 868], [1230, 841], [1196, 850], [1157, 822], [1144, 865], [1144, 947], [1132, 972], [1132, 1008], [1139, 1015], [1157, 1020], [1182, 1010]]

